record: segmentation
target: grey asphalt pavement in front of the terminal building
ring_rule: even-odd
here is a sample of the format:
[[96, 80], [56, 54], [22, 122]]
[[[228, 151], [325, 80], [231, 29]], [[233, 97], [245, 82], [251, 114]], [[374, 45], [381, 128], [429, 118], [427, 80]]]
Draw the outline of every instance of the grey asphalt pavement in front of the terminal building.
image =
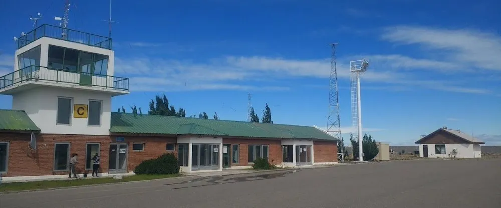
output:
[[414, 160], [0, 195], [0, 207], [501, 207], [501, 160]]

